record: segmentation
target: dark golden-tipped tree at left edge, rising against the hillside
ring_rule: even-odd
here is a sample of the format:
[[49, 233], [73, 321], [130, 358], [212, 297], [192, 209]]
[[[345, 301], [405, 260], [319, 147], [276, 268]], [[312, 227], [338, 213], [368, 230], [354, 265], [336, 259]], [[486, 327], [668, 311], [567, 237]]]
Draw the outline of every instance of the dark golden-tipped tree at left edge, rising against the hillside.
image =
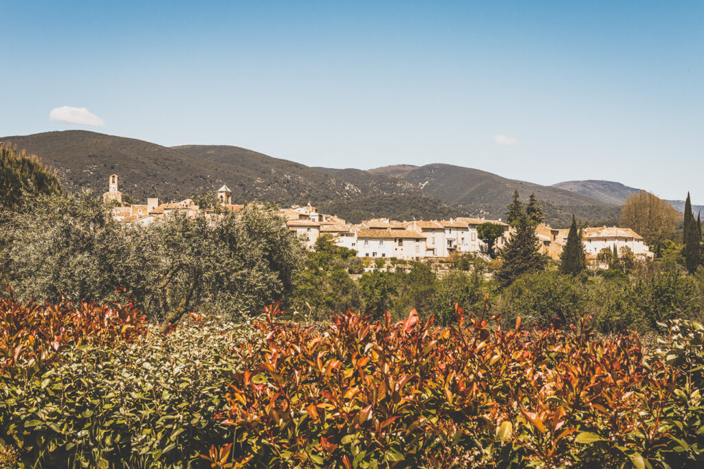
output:
[[0, 208], [16, 210], [24, 193], [61, 193], [54, 169], [44, 166], [37, 155], [18, 152], [10, 142], [0, 143]]

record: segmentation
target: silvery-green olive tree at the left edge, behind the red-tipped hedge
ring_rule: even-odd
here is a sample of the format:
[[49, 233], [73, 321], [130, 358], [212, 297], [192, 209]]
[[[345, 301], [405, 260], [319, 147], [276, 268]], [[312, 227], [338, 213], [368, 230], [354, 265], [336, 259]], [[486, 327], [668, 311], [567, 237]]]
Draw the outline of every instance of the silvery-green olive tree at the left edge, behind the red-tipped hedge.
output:
[[146, 233], [119, 224], [92, 193], [26, 198], [4, 223], [3, 271], [25, 300], [118, 300], [148, 295]]

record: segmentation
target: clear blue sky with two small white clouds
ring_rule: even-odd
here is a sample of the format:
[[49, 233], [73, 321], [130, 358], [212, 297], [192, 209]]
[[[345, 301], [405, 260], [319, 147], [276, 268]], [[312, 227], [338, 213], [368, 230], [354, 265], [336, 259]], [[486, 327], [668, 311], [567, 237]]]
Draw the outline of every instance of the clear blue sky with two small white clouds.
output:
[[0, 136], [444, 162], [704, 203], [704, 1], [0, 0]]

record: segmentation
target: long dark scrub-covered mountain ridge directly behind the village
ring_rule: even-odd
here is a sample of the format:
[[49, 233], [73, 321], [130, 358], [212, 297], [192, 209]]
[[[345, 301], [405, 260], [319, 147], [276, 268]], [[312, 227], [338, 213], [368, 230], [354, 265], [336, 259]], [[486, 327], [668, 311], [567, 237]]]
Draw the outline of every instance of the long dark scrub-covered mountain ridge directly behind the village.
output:
[[222, 184], [237, 203], [270, 200], [280, 205], [313, 203], [356, 222], [372, 217], [431, 219], [484, 214], [504, 217], [517, 189], [541, 200], [548, 222], [611, 223], [619, 207], [562, 188], [505, 179], [452, 165], [394, 165], [370, 169], [308, 167], [236, 146], [155, 143], [90, 131], [54, 131], [2, 137], [51, 165], [68, 191], [103, 193], [110, 174], [134, 200], [158, 196], [180, 200]]

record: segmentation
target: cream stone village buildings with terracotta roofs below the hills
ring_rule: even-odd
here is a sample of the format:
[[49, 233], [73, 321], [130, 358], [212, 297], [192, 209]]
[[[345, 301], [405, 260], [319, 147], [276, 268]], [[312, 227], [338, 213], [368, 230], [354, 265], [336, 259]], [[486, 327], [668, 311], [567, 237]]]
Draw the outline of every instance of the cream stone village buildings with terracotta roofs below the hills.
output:
[[[227, 185], [215, 191], [215, 195], [225, 210], [239, 211], [243, 207], [232, 203], [232, 191]], [[201, 212], [199, 205], [191, 199], [163, 203], [158, 198], [148, 198], [146, 205], [123, 203], [117, 174], [110, 176], [108, 191], [103, 193], [103, 200], [118, 204], [112, 212], [115, 220], [141, 225], [148, 225], [169, 214], [183, 213], [187, 217], [194, 217]], [[208, 210], [204, 211], [208, 213]], [[356, 250], [358, 257], [420, 260], [470, 253], [491, 260], [486, 243], [479, 238], [477, 227], [485, 223], [503, 227], [503, 234], [496, 238], [496, 250], [500, 250], [513, 233], [513, 229], [501, 219], [457, 217], [446, 220], [396, 221], [379, 218], [362, 221], [360, 224], [348, 224], [336, 215], [318, 212], [310, 204], [282, 208], [279, 212], [286, 219], [289, 230], [296, 231], [308, 249], [313, 248], [321, 235], [327, 234], [337, 245]], [[537, 226], [540, 252], [559, 259], [567, 243], [568, 233], [569, 229], [555, 229], [546, 224]], [[653, 257], [648, 245], [643, 243], [643, 238], [628, 228], [585, 228], [582, 230], [582, 241], [588, 260], [596, 259], [601, 250], [614, 246], [619, 252], [622, 248], [628, 248], [636, 257]]]

